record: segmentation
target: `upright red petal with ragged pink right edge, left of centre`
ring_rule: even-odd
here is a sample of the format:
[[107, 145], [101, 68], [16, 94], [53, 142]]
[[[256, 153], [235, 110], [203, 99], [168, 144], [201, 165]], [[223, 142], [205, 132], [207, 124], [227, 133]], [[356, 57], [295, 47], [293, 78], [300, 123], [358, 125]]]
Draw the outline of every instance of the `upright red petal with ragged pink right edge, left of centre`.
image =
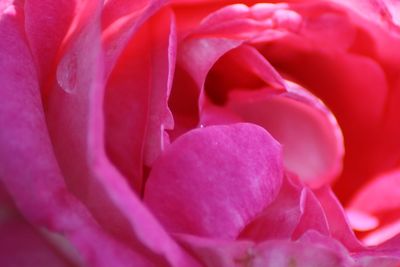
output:
[[107, 152], [138, 193], [143, 165], [150, 166], [169, 143], [165, 130], [173, 127], [168, 96], [176, 53], [174, 27], [169, 11], [146, 22], [128, 43], [106, 87]]

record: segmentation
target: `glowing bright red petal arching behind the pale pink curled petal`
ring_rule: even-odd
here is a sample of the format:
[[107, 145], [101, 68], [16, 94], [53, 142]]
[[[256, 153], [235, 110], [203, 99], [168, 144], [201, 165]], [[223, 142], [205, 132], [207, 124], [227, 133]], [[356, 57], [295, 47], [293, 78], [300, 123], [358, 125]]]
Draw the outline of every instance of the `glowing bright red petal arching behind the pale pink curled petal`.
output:
[[300, 39], [288, 39], [266, 47], [263, 53], [279, 72], [317, 95], [335, 114], [346, 136], [344, 170], [335, 191], [346, 200], [369, 177], [371, 169], [382, 166], [382, 161], [365, 148], [378, 146], [376, 129], [388, 91], [385, 74], [377, 62], [365, 56], [301, 46]]

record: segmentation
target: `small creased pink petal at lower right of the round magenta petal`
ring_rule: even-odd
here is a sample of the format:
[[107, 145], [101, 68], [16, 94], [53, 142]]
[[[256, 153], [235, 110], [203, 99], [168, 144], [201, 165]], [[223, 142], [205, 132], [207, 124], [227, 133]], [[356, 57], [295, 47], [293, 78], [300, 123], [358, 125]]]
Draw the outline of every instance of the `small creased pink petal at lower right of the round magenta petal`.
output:
[[308, 230], [330, 234], [324, 211], [314, 194], [296, 177], [287, 174], [277, 198], [246, 226], [239, 239], [295, 240]]

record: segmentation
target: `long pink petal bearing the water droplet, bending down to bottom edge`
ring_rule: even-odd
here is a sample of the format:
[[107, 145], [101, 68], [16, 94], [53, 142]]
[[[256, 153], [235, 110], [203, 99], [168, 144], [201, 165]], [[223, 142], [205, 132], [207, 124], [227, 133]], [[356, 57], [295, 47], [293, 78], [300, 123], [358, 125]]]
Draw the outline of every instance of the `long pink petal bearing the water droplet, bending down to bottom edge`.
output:
[[[84, 27], [72, 35], [49, 97], [49, 130], [70, 190], [107, 234], [158, 265], [196, 263], [168, 236], [132, 192], [104, 151], [101, 2], [91, 2]], [[105, 261], [107, 262], [107, 261]]]

